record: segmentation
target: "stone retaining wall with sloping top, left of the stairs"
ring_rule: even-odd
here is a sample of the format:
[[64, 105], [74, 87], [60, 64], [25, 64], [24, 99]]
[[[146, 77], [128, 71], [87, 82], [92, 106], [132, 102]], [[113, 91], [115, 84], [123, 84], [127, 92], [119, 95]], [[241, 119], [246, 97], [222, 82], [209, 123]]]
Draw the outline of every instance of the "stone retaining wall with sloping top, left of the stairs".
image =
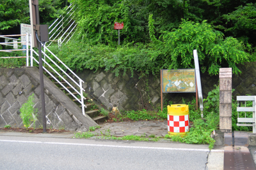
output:
[[[46, 76], [44, 76], [44, 87], [47, 128], [88, 131], [90, 126], [97, 125], [90, 117], [84, 117], [81, 108]], [[35, 94], [34, 108], [38, 109], [35, 126], [39, 127], [42, 126], [42, 102], [38, 69], [36, 67], [0, 69], [0, 127], [4, 125], [23, 127], [19, 109], [32, 94]]]

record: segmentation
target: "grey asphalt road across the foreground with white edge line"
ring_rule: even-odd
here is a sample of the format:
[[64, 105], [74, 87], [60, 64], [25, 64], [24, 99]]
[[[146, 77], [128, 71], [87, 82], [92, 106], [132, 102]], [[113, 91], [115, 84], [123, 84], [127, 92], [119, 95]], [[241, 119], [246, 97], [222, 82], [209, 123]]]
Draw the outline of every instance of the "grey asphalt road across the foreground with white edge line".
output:
[[223, 169], [207, 145], [0, 136], [0, 169]]

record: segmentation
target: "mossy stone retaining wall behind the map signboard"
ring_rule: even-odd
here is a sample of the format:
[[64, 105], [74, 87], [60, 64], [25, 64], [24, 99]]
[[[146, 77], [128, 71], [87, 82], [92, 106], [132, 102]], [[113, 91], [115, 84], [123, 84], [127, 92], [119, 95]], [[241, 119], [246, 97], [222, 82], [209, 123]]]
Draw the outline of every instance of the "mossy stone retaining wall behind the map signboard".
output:
[[[233, 96], [243, 96], [246, 94], [256, 94], [256, 64], [246, 63], [239, 66], [242, 74], [233, 75], [232, 89], [235, 89]], [[118, 106], [119, 110], [156, 110], [161, 106], [160, 75], [150, 75], [148, 78], [139, 78], [138, 73], [122, 73], [118, 77], [111, 71], [98, 70], [97, 72], [86, 69], [82, 73], [77, 73], [86, 83], [84, 88], [86, 93], [102, 104], [108, 110], [113, 106]], [[159, 73], [160, 74], [160, 73]], [[204, 99], [209, 91], [218, 85], [219, 78], [201, 73], [202, 92]], [[182, 103], [182, 99], [187, 102], [195, 97], [195, 93], [168, 93], [163, 94], [164, 101], [173, 104]], [[142, 99], [142, 100], [141, 100]]]

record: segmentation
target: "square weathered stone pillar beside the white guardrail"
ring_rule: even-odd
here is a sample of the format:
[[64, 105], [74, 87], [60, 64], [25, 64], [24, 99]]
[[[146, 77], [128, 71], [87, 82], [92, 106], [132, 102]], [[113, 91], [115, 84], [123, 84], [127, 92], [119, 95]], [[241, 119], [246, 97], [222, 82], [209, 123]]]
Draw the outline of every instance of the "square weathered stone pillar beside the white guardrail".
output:
[[232, 132], [232, 68], [220, 68], [220, 131]]

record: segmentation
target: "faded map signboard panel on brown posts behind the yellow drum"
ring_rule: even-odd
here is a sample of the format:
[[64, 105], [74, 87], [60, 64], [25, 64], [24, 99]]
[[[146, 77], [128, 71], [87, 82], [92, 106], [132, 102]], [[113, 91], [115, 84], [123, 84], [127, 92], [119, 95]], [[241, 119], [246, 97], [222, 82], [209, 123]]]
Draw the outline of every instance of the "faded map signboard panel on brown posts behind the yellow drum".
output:
[[195, 69], [162, 69], [162, 92], [196, 92]]

